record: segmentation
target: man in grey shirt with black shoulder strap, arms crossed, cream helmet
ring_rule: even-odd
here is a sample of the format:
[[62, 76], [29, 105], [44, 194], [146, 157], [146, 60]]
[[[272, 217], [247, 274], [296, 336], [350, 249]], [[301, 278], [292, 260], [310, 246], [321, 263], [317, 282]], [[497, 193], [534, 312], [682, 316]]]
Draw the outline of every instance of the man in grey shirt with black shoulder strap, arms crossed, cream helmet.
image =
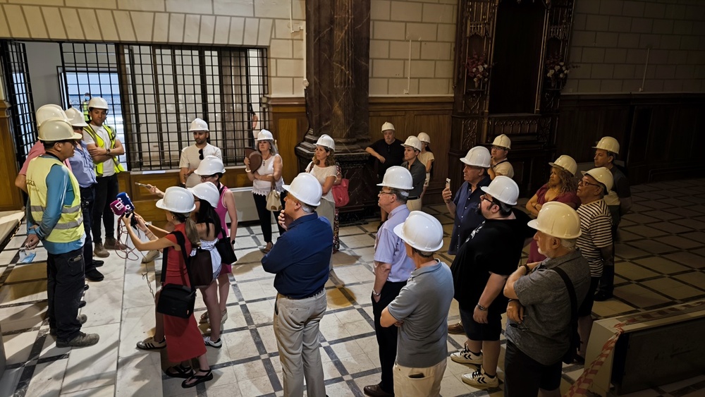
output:
[[[568, 204], [547, 202], [537, 219], [534, 240], [544, 262], [523, 264], [504, 287], [507, 307], [504, 395], [560, 396], [563, 355], [571, 348], [568, 286], [580, 305], [590, 284], [587, 262], [575, 249], [580, 218]], [[563, 271], [568, 282], [558, 274]]]

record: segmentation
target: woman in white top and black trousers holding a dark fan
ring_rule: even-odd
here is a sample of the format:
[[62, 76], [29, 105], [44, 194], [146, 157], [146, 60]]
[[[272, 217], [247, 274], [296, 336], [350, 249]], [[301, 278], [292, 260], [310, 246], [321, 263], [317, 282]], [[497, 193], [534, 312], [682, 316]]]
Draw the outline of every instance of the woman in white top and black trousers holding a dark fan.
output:
[[[284, 181], [281, 178], [281, 156], [277, 154], [274, 146], [274, 137], [268, 130], [261, 130], [257, 134], [257, 152], [262, 154], [262, 165], [259, 169], [250, 169], [250, 159], [245, 157], [245, 172], [252, 181], [252, 197], [255, 198], [255, 207], [259, 216], [259, 226], [262, 228], [262, 237], [266, 246], [261, 248], [265, 254], [271, 250], [271, 211], [266, 207], [266, 196], [274, 189], [281, 195], [281, 207], [284, 207]], [[274, 214], [274, 218], [279, 214]], [[284, 229], [277, 223], [279, 236]]]

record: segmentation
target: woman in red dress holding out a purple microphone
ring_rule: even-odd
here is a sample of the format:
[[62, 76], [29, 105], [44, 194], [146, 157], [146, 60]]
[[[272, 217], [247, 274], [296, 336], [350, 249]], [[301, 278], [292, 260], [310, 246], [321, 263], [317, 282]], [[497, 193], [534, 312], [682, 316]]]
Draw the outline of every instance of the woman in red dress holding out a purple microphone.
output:
[[[195, 209], [193, 195], [185, 188], [168, 188], [164, 198], [157, 202], [157, 208], [164, 209], [166, 220], [175, 226], [173, 233], [183, 234], [185, 237], [184, 246], [190, 252], [191, 247], [200, 240], [196, 224], [190, 219], [190, 212]], [[164, 249], [166, 255], [164, 285], [190, 286], [188, 272], [176, 236], [153, 225], [147, 226], [141, 216], [137, 214], [134, 216], [137, 219], [137, 227], [145, 231], [150, 239], [149, 242], [143, 243], [130, 225], [130, 218], [123, 217], [123, 223], [135, 248], [140, 251]], [[156, 239], [153, 240], [153, 238]], [[159, 301], [160, 292], [161, 290], [157, 291], [155, 303]], [[169, 361], [180, 364], [168, 367], [164, 372], [170, 377], [186, 379], [181, 384], [184, 389], [212, 380], [213, 374], [206, 358], [206, 346], [193, 314], [188, 319], [183, 319], [157, 313], [156, 318], [154, 336], [137, 343], [137, 347], [151, 350], [166, 346]], [[192, 358], [198, 358], [199, 367], [196, 371], [189, 365]]]

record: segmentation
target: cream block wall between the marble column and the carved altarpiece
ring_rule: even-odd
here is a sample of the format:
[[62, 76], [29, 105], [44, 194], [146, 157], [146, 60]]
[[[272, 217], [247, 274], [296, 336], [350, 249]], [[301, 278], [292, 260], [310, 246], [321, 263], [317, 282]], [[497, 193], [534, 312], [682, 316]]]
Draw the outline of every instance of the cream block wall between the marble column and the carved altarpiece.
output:
[[372, 0], [369, 94], [453, 94], [458, 0]]

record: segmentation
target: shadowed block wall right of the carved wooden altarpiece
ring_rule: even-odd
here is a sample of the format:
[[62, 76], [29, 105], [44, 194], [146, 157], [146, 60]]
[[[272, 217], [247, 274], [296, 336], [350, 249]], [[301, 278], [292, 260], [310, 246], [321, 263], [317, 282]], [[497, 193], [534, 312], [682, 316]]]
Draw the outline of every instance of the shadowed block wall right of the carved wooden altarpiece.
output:
[[564, 93], [639, 92], [644, 68], [644, 92], [704, 92], [705, 2], [576, 0], [570, 61]]

